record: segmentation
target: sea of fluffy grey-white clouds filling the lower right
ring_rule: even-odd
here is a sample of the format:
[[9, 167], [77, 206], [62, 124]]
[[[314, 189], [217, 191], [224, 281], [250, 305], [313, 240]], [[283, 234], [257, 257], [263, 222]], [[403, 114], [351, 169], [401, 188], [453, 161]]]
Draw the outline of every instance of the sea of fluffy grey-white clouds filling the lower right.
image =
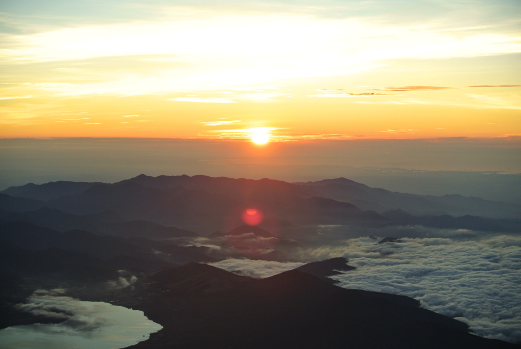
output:
[[345, 244], [343, 257], [357, 269], [332, 276], [340, 286], [410, 296], [468, 323], [477, 335], [521, 342], [521, 237], [402, 238], [381, 245], [364, 237]]

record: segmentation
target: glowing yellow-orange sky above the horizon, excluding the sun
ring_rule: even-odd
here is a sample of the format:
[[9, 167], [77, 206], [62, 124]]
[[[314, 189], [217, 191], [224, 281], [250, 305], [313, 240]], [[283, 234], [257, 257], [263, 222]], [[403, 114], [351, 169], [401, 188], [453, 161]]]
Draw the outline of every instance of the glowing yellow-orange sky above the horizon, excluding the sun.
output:
[[521, 137], [517, 1], [1, 1], [0, 137]]

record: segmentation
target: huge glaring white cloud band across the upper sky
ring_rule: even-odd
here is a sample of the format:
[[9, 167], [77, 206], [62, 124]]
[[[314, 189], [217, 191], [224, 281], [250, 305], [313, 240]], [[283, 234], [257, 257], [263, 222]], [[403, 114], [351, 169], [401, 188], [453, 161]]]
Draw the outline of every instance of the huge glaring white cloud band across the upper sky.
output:
[[[441, 28], [439, 22], [417, 26], [294, 11], [225, 14], [205, 6], [178, 8], [168, 19], [41, 29], [6, 34], [4, 56], [11, 66], [21, 61], [60, 62], [60, 79], [81, 74], [81, 79], [75, 79], [78, 83], [57, 86], [58, 95], [226, 91], [232, 86], [358, 74], [394, 59], [517, 53], [521, 47], [513, 32], [501, 32], [498, 27], [471, 29], [452, 23]], [[111, 69], [111, 74], [103, 74], [104, 68], [101, 73], [78, 70], [80, 60], [107, 57], [125, 59], [127, 69], [115, 73]], [[143, 66], [145, 60], [165, 64]], [[39, 72], [26, 74], [35, 73]]]

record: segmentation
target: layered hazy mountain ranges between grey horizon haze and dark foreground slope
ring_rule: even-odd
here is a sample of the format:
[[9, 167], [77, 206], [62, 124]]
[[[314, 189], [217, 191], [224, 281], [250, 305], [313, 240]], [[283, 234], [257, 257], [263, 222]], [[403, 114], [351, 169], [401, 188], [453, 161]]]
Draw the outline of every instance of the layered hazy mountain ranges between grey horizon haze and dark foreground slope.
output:
[[[387, 205], [384, 209], [400, 208], [382, 213], [364, 211], [345, 202], [350, 201], [349, 197], [356, 197], [358, 201], [350, 200], [362, 207], [378, 202], [381, 207]], [[507, 207], [512, 212], [517, 206], [460, 196], [392, 193], [345, 178], [294, 184], [267, 178], [140, 175], [114, 184], [28, 184], [0, 193], [0, 242], [19, 250], [5, 256], [12, 260], [4, 261], [3, 270], [19, 278], [29, 275], [28, 269], [6, 267], [15, 266], [28, 251], [34, 251], [34, 263], [49, 250], [58, 259], [78, 254], [73, 258], [77, 268], [102, 268], [107, 272], [96, 273], [111, 275], [108, 271], [157, 271], [187, 262], [226, 258], [296, 261], [299, 251], [309, 244], [343, 238], [344, 232], [356, 229], [395, 231], [401, 226], [426, 226], [521, 232], [519, 219], [415, 215], [401, 207], [417, 211], [427, 207], [450, 211], [458, 207], [461, 212], [478, 208], [490, 208], [492, 212]], [[241, 214], [251, 208], [264, 216], [258, 226], [245, 225], [241, 219]], [[343, 228], [337, 235], [317, 234], [322, 226]], [[310, 239], [314, 242], [310, 243]], [[41, 265], [49, 264], [42, 261]]]

